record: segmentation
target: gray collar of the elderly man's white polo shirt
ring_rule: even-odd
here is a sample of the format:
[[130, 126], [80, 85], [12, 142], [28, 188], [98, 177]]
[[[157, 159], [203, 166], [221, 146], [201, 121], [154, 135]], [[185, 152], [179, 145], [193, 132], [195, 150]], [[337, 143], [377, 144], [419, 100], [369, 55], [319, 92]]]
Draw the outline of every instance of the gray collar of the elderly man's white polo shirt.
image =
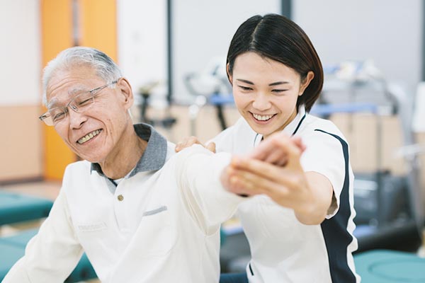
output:
[[[164, 166], [166, 160], [167, 142], [159, 132], [147, 124], [134, 125], [137, 136], [147, 141], [145, 152], [137, 162], [129, 177], [143, 171], [157, 171]], [[91, 171], [96, 171], [103, 175], [101, 166], [98, 163], [91, 163]]]

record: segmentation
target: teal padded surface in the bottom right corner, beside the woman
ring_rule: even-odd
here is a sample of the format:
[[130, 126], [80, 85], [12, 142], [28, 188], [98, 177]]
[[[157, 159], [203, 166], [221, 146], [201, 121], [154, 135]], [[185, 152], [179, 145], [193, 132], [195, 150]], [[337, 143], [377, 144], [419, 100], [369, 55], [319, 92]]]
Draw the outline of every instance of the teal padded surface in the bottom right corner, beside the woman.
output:
[[425, 282], [425, 258], [396, 250], [369, 250], [354, 255], [362, 283]]

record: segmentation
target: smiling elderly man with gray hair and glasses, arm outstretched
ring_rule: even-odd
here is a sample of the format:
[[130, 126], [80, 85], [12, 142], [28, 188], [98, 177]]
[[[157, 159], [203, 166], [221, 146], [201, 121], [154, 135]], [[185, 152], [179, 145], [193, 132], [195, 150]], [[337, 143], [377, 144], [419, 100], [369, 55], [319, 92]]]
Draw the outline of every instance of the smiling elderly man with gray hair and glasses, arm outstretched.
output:
[[220, 223], [244, 200], [225, 190], [237, 185], [230, 156], [202, 146], [174, 154], [152, 127], [133, 125], [130, 83], [98, 50], [58, 54], [43, 89], [40, 120], [84, 161], [67, 166], [4, 282], [63, 282], [83, 252], [102, 282], [218, 282]]

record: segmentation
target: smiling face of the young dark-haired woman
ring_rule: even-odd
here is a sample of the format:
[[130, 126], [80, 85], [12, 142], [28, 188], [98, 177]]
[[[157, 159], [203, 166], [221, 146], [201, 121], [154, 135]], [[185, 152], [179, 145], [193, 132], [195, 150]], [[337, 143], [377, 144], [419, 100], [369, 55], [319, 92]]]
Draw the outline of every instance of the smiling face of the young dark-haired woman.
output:
[[310, 83], [295, 70], [255, 52], [240, 54], [229, 79], [236, 106], [255, 132], [264, 138], [284, 129], [297, 115], [297, 98]]

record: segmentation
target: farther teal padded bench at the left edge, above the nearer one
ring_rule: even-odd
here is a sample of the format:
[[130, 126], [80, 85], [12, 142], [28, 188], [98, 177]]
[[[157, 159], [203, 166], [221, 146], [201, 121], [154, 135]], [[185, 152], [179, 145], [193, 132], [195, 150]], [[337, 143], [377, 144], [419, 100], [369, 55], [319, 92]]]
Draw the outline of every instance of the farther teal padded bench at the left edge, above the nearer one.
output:
[[0, 226], [47, 217], [53, 202], [40, 197], [0, 192]]

